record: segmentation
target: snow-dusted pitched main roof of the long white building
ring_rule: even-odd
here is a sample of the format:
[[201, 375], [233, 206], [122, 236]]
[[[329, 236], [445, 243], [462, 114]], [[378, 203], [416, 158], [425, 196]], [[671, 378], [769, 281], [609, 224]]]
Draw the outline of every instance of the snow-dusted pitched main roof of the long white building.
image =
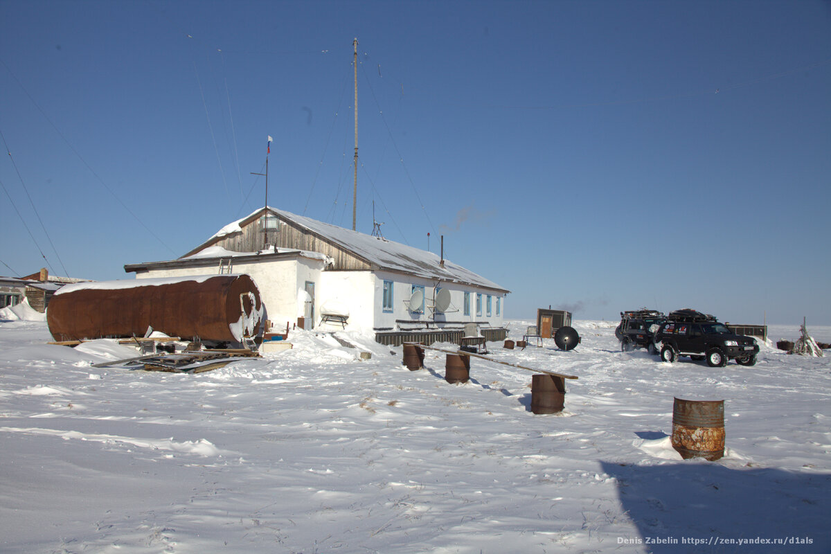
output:
[[[259, 208], [248, 216], [238, 219], [234, 223], [229, 223], [209, 238], [201, 247], [199, 252], [204, 252], [209, 245], [215, 243], [220, 238], [237, 233], [242, 230], [243, 225], [253, 221], [258, 217], [262, 217], [266, 208]], [[316, 234], [329, 243], [335, 244], [338, 248], [342, 248], [347, 252], [352, 252], [357, 257], [361, 257], [370, 263], [376, 269], [386, 270], [391, 272], [405, 272], [418, 277], [425, 277], [427, 279], [435, 279], [444, 282], [459, 282], [479, 287], [494, 289], [500, 292], [509, 292], [504, 287], [500, 287], [497, 283], [486, 279], [475, 272], [471, 272], [465, 267], [461, 267], [449, 260], [441, 263], [441, 258], [433, 252], [427, 252], [420, 248], [407, 246], [406, 244], [396, 243], [385, 238], [373, 237], [366, 233], [359, 233], [337, 227], [330, 223], [323, 223], [316, 219], [307, 218], [295, 213], [286, 212], [281, 209], [268, 207], [268, 210], [279, 218], [291, 222], [297, 227], [304, 228], [307, 231]], [[198, 255], [194, 254], [195, 255]]]

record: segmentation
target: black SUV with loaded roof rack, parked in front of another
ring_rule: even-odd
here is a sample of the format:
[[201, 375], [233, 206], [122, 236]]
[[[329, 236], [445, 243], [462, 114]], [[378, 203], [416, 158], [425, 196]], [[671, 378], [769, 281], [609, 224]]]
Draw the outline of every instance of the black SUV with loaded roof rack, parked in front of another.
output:
[[707, 360], [711, 367], [724, 367], [727, 360], [754, 365], [759, 345], [750, 336], [736, 335], [714, 316], [695, 310], [671, 311], [655, 334], [662, 361], [675, 361], [679, 355], [692, 360]]

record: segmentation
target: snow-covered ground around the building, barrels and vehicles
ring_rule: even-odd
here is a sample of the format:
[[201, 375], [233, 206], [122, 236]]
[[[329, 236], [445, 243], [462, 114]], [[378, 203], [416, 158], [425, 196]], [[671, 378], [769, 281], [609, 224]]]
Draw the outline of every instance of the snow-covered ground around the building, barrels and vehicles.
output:
[[[831, 355], [664, 364], [614, 325], [577, 321], [568, 352], [489, 343], [579, 376], [562, 414], [534, 415], [531, 372], [474, 359], [449, 385], [443, 354], [411, 372], [366, 337], [371, 360], [294, 331], [291, 351], [179, 375], [0, 322], [0, 551], [831, 552]], [[671, 448], [674, 396], [725, 400], [725, 458]]]

